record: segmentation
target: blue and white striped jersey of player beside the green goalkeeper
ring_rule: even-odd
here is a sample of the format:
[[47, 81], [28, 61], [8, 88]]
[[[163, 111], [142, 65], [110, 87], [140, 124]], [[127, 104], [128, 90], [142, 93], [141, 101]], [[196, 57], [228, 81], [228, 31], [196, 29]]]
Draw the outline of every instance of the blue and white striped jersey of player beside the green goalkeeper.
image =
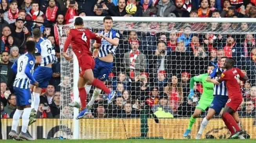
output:
[[[216, 67], [212, 70], [212, 72], [210, 73], [209, 76], [216, 79], [223, 73], [223, 71], [225, 71], [225, 70], [222, 68]], [[219, 85], [214, 85], [213, 95], [228, 96], [226, 83], [224, 81], [221, 82]]]

